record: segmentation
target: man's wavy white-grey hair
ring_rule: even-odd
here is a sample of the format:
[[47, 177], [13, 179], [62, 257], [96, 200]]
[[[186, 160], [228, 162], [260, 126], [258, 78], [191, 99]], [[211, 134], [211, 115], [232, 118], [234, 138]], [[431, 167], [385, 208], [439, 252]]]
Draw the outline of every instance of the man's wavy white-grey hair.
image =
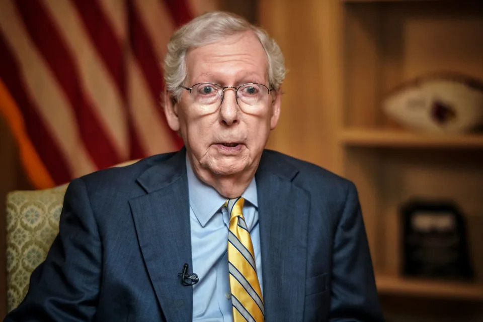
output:
[[209, 12], [178, 29], [168, 43], [163, 69], [167, 90], [175, 99], [181, 97], [186, 76], [186, 53], [192, 47], [212, 44], [246, 31], [257, 36], [267, 54], [269, 87], [278, 90], [285, 78], [284, 58], [280, 47], [265, 30], [245, 19], [226, 12]]

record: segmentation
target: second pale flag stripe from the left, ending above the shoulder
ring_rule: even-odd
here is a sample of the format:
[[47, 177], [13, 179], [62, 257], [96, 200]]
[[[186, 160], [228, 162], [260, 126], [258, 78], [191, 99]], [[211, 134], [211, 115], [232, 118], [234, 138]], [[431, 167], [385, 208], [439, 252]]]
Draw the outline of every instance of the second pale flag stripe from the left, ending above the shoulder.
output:
[[129, 156], [127, 120], [123, 101], [114, 80], [95, 50], [75, 8], [67, 0], [46, 1], [53, 23], [67, 44], [85, 94], [93, 102], [93, 113], [121, 159]]

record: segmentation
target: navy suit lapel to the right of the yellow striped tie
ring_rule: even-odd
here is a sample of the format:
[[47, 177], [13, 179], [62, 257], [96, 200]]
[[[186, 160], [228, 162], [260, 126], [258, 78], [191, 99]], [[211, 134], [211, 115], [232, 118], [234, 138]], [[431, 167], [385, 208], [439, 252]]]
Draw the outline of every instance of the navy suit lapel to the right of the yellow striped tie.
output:
[[266, 321], [300, 321], [305, 299], [310, 197], [297, 170], [264, 153], [257, 171]]

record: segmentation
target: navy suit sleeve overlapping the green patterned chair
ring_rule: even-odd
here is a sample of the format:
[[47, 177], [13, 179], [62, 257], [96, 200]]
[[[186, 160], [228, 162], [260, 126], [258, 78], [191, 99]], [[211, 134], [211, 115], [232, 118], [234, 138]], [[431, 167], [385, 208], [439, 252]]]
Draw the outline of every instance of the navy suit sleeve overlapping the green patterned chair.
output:
[[5, 322], [91, 321], [96, 313], [101, 241], [86, 186], [73, 180], [64, 197], [59, 235], [32, 273], [24, 301]]

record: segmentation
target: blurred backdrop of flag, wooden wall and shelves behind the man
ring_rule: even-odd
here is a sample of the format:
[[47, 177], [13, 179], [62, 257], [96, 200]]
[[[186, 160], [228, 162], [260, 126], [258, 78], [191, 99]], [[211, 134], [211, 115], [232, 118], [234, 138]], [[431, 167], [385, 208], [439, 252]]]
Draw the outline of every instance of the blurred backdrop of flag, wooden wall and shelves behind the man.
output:
[[269, 148], [356, 183], [387, 321], [483, 321], [480, 1], [0, 0], [0, 208], [8, 191], [178, 149], [159, 61], [211, 10], [282, 48]]

